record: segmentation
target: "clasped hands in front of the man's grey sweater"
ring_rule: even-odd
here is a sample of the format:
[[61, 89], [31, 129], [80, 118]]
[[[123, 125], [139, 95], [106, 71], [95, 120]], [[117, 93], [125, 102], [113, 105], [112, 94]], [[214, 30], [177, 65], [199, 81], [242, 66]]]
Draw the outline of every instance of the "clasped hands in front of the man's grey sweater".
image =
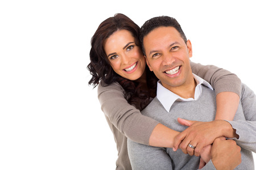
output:
[[[230, 162], [229, 165], [238, 165], [241, 163], [241, 148], [236, 145], [235, 141], [225, 139], [225, 137], [233, 138], [233, 135], [237, 135], [233, 132], [233, 128], [228, 122], [223, 120], [199, 122], [184, 120], [182, 118], [178, 118], [177, 121], [181, 125], [188, 126], [189, 128], [176, 135], [173, 150], [176, 151], [177, 148], [181, 148], [184, 154], [201, 156], [199, 168], [203, 168], [205, 163], [208, 163], [210, 159], [212, 159], [212, 162], [219, 162], [216, 158]], [[227, 127], [232, 130], [227, 130]], [[214, 165], [220, 166], [219, 163]]]

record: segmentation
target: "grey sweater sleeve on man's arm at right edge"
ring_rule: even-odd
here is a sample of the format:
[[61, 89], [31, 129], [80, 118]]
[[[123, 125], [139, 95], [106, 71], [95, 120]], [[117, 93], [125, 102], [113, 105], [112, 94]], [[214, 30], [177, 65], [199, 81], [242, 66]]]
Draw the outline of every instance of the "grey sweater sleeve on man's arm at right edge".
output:
[[245, 84], [242, 84], [241, 104], [246, 121], [228, 121], [239, 135], [239, 139], [233, 139], [241, 147], [256, 152], [256, 96]]

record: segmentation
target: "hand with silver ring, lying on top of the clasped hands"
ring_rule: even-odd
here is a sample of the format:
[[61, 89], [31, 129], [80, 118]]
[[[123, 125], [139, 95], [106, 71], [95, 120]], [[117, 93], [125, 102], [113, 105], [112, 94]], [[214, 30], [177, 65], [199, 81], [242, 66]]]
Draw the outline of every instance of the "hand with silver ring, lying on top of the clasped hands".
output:
[[[224, 136], [223, 130], [226, 129], [227, 126], [233, 129], [228, 122], [223, 120], [199, 122], [178, 118], [177, 121], [181, 125], [190, 127], [176, 135], [173, 150], [176, 151], [177, 148], [180, 147], [184, 154], [195, 154], [195, 156], [199, 156], [203, 147], [212, 144], [214, 139]], [[189, 144], [196, 148], [193, 149], [189, 147]]]

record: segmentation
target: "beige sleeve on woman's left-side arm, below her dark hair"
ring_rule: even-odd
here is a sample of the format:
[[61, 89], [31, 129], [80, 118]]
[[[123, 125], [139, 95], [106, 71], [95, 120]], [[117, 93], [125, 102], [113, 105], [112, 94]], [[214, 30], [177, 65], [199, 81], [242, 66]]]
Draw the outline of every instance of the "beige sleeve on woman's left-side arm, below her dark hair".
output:
[[[103, 86], [102, 86], [103, 85]], [[98, 85], [101, 110], [123, 135], [134, 142], [149, 145], [149, 139], [158, 121], [143, 116], [133, 105], [127, 103], [125, 92], [118, 83]]]

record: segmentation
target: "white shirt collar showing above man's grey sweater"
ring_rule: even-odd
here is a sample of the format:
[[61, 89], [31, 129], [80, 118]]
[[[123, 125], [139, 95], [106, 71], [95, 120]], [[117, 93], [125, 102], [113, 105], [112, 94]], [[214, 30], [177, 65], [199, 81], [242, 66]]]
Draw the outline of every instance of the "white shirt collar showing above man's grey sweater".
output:
[[197, 86], [195, 89], [195, 99], [193, 98], [184, 99], [183, 97], [180, 97], [174, 94], [173, 92], [171, 92], [170, 90], [168, 90], [167, 88], [163, 87], [160, 80], [158, 81], [156, 97], [158, 97], [158, 100], [160, 101], [160, 103], [162, 103], [163, 107], [166, 109], [167, 112], [170, 111], [172, 104], [174, 104], [174, 102], [178, 99], [181, 101], [192, 101], [192, 100], [199, 99], [202, 93], [202, 84], [204, 84], [206, 87], [209, 87], [211, 90], [213, 90], [212, 86], [210, 86], [210, 84], [207, 81], [205, 81], [204, 79], [200, 78], [195, 74], [193, 74], [193, 76], [197, 83]]

